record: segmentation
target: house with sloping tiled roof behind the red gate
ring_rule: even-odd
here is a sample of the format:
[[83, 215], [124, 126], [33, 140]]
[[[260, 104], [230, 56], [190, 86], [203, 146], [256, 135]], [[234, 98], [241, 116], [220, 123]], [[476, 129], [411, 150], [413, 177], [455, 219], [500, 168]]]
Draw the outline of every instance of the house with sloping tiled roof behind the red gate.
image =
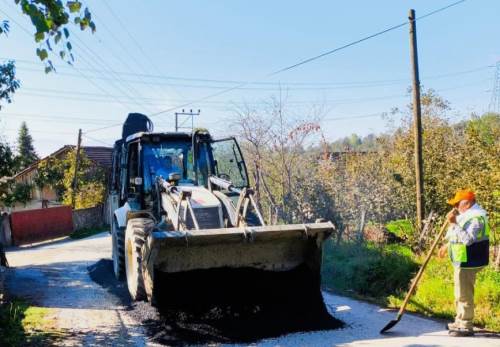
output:
[[[23, 204], [18, 204], [14, 207], [14, 210], [24, 210], [24, 209], [34, 209], [34, 208], [42, 208], [45, 205], [54, 206], [60, 205], [58, 201], [57, 193], [51, 187], [44, 187], [41, 190], [35, 184], [35, 178], [37, 176], [38, 164], [49, 157], [56, 159], [64, 159], [69, 151], [73, 150], [75, 146], [65, 145], [59, 148], [54, 153], [48, 155], [45, 158], [40, 159], [39, 161], [31, 164], [24, 170], [15, 174], [12, 179], [15, 183], [25, 183], [30, 184], [32, 187], [31, 191], [31, 200], [24, 206]], [[96, 166], [103, 168], [106, 172], [111, 172], [112, 165], [112, 152], [113, 148], [111, 147], [94, 147], [94, 146], [82, 146], [81, 151], [83, 154], [87, 156]]]

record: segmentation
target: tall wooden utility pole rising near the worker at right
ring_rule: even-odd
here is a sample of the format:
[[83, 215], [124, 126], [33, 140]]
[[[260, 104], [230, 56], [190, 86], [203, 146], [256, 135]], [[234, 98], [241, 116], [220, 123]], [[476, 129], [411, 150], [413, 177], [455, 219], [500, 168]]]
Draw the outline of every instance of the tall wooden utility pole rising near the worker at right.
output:
[[420, 105], [420, 79], [418, 75], [417, 26], [415, 10], [408, 15], [410, 21], [410, 56], [413, 72], [413, 133], [415, 137], [415, 187], [417, 196], [417, 229], [422, 228], [424, 220], [424, 173], [422, 159], [422, 110]]

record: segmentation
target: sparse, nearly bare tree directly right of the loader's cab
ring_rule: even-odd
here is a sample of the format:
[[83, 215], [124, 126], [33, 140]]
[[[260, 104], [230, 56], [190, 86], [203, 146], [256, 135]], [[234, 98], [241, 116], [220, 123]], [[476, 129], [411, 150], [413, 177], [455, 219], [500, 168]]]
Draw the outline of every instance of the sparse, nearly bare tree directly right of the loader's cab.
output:
[[320, 132], [318, 112], [321, 110], [313, 109], [294, 119], [282, 98], [272, 98], [262, 109], [245, 105], [236, 110], [232, 126], [242, 140], [247, 163], [251, 163], [248, 169], [256, 200], [271, 223], [325, 217], [314, 208], [319, 206], [313, 196], [317, 189], [311, 187], [316, 183], [316, 155], [304, 149]]

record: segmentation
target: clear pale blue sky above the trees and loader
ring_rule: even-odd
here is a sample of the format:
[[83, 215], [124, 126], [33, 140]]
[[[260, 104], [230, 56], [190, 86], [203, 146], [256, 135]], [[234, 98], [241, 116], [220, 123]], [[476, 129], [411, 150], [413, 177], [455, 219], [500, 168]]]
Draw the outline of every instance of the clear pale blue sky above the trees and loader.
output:
[[[195, 126], [224, 136], [236, 109], [262, 109], [280, 95], [290, 118], [321, 110], [328, 140], [381, 133], [381, 115], [411, 100], [408, 26], [270, 74], [403, 23], [411, 8], [418, 17], [454, 1], [82, 0], [97, 31], [71, 26], [74, 65], [54, 57], [56, 72], [45, 74], [28, 17], [0, 0], [0, 20], [11, 23], [0, 62], [15, 60], [21, 80], [0, 110], [0, 136], [15, 145], [26, 121], [42, 156], [75, 144], [80, 128], [83, 145], [110, 146], [128, 113], [168, 110], [152, 120], [173, 131], [182, 108], [201, 110]], [[500, 1], [468, 0], [417, 22], [422, 86], [451, 103], [452, 120], [488, 110], [498, 14]]]

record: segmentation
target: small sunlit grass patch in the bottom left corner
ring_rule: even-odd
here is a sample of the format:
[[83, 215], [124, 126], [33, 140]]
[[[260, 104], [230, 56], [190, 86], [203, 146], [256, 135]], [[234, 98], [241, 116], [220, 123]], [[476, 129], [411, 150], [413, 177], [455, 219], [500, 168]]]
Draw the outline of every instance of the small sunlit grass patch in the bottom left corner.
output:
[[51, 309], [22, 299], [0, 305], [0, 346], [49, 346], [58, 338]]

